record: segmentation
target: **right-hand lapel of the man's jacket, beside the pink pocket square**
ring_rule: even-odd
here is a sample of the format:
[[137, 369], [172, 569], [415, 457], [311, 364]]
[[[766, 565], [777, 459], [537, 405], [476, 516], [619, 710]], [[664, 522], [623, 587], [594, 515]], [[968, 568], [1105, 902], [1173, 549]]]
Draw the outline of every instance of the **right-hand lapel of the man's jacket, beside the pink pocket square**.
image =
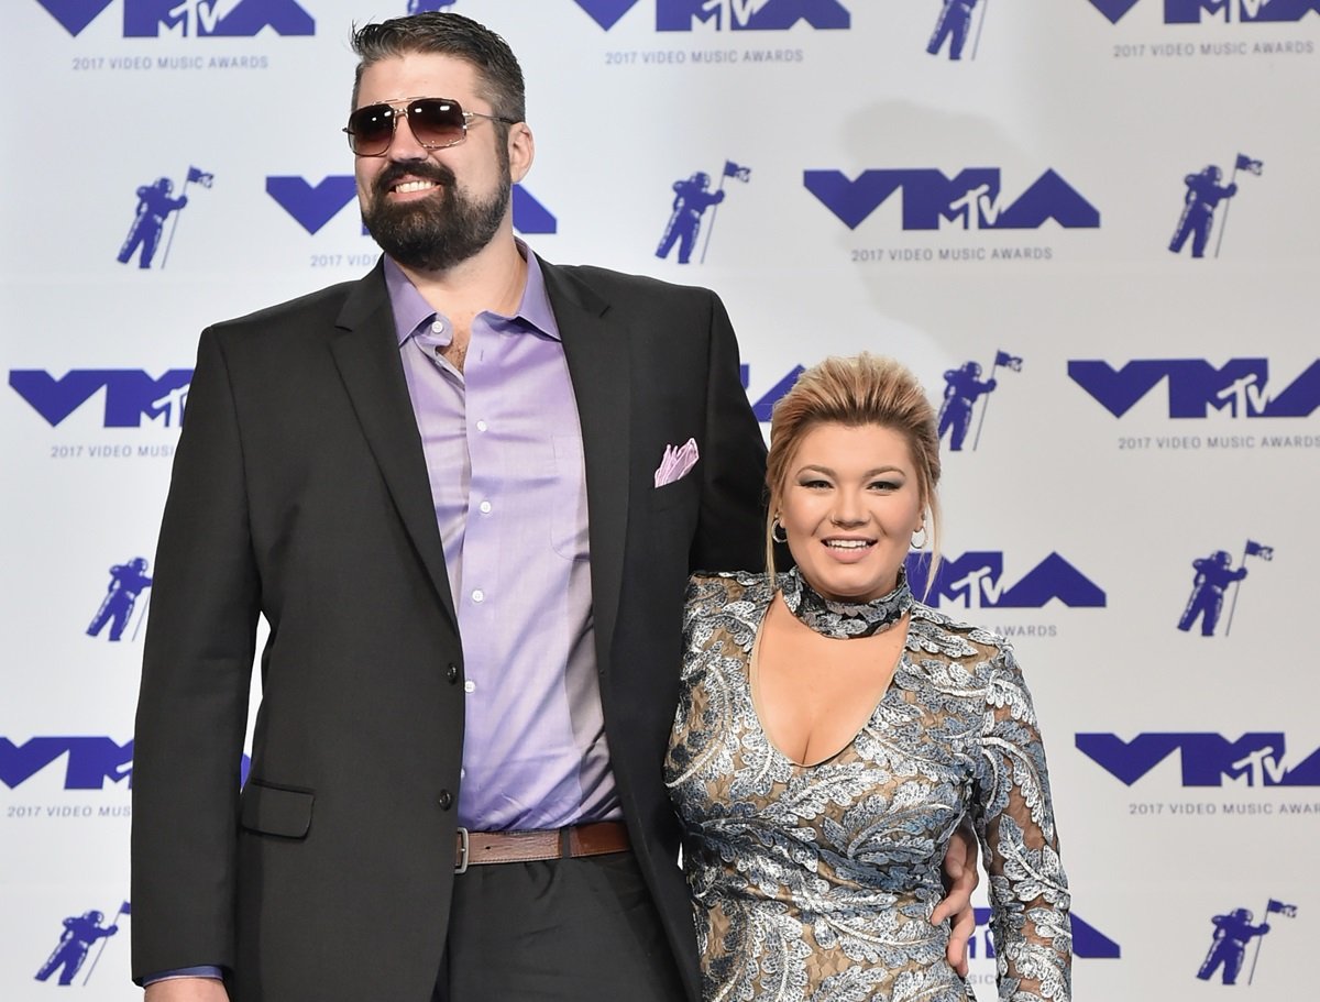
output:
[[587, 285], [545, 261], [541, 261], [541, 271], [564, 341], [582, 425], [591, 609], [597, 663], [605, 672], [610, 667], [628, 529], [632, 416], [628, 337], [626, 330], [606, 321], [610, 304]]

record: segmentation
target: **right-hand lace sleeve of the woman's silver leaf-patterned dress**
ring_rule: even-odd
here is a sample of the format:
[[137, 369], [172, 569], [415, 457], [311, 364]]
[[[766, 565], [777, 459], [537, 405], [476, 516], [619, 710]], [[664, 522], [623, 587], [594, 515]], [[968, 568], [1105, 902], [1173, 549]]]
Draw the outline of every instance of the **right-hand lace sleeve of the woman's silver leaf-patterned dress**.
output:
[[1069, 1002], [1068, 878], [1036, 713], [1007, 647], [995, 656], [986, 689], [973, 821], [990, 874], [1001, 1002]]

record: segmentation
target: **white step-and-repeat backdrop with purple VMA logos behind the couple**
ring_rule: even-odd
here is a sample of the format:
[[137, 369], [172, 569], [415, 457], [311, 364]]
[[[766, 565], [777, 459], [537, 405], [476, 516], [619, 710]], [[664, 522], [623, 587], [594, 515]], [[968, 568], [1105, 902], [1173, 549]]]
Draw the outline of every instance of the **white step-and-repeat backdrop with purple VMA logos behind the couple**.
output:
[[347, 40], [436, 8], [523, 61], [543, 256], [717, 289], [763, 420], [828, 354], [925, 382], [932, 602], [1036, 696], [1077, 998], [1309, 995], [1320, 0], [9, 0], [0, 997], [135, 998], [197, 335], [372, 267]]

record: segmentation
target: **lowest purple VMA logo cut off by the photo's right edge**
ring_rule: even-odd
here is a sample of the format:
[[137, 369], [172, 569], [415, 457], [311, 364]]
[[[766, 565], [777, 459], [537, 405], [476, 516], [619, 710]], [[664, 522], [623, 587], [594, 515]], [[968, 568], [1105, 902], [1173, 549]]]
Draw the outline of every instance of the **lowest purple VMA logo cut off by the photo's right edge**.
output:
[[1078, 734], [1076, 743], [1127, 785], [1176, 751], [1184, 787], [1221, 787], [1225, 776], [1246, 779], [1249, 787], [1320, 787], [1320, 750], [1288, 766], [1282, 733], [1243, 734], [1237, 741], [1221, 734], [1138, 734], [1131, 741], [1115, 734]]

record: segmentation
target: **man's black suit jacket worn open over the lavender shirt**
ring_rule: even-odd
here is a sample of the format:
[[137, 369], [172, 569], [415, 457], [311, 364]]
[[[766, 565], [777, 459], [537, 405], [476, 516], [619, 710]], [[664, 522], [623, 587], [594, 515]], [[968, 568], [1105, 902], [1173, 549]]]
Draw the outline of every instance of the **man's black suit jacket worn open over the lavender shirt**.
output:
[[[582, 426], [606, 734], [693, 999], [661, 763], [690, 569], [760, 562], [764, 448], [704, 289], [543, 264]], [[656, 488], [665, 445], [701, 458]], [[462, 648], [380, 267], [207, 329], [157, 549], [133, 767], [133, 974], [240, 1002], [430, 998]], [[255, 659], [251, 776], [239, 760]]]

